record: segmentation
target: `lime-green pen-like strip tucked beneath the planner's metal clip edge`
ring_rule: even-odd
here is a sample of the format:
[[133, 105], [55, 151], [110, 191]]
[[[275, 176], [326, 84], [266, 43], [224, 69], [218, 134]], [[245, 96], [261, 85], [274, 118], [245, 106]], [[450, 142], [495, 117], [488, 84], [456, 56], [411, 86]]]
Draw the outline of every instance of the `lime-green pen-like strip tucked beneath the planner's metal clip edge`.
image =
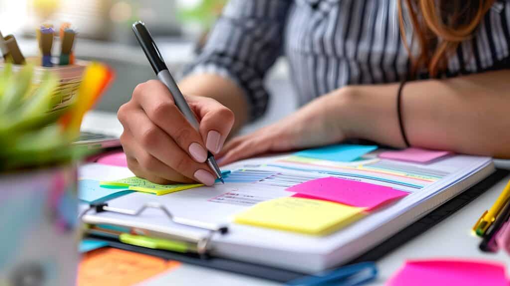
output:
[[131, 235], [130, 233], [122, 233], [121, 235], [119, 235], [119, 241], [125, 244], [131, 244], [152, 249], [170, 250], [181, 253], [186, 253], [192, 250], [190, 249], [190, 246], [186, 242], [150, 238], [139, 235]]

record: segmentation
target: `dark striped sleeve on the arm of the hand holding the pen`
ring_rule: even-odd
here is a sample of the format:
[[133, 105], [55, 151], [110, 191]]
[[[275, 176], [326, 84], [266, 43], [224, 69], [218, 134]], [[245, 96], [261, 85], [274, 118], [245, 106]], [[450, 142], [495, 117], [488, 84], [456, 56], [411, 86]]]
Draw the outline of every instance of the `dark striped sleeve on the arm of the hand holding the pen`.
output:
[[240, 86], [250, 103], [250, 119], [267, 109], [266, 71], [282, 51], [290, 0], [231, 0], [209, 35], [201, 55], [185, 74], [214, 73]]

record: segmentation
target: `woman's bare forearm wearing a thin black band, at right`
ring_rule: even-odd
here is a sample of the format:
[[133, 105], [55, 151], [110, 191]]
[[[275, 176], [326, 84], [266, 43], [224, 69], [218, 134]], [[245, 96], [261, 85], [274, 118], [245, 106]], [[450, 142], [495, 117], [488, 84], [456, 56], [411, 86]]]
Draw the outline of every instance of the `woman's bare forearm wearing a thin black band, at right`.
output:
[[[388, 84], [339, 92], [344, 102], [340, 117], [349, 137], [403, 147], [397, 90], [398, 84]], [[402, 90], [404, 128], [413, 146], [510, 158], [508, 110], [507, 70], [409, 82]]]

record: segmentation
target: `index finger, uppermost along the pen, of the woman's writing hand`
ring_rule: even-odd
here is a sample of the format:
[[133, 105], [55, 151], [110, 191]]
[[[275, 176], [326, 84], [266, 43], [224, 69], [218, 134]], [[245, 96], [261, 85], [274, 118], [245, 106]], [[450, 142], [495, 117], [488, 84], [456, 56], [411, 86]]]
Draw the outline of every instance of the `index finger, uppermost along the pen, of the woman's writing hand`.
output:
[[182, 150], [196, 162], [207, 159], [207, 151], [201, 135], [175, 105], [168, 88], [160, 81], [148, 81], [138, 85], [133, 98], [147, 117], [166, 132]]

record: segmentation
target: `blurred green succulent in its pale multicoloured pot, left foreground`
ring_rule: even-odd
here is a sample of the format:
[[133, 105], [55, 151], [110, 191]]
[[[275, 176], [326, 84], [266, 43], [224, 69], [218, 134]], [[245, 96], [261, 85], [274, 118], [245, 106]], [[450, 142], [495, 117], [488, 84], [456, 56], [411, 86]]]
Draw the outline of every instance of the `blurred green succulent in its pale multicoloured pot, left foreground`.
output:
[[[73, 285], [79, 253], [77, 164], [59, 76], [0, 69], [0, 285]], [[13, 71], [18, 69], [18, 71]], [[64, 116], [64, 117], [63, 117]], [[24, 282], [23, 282], [24, 281]]]

